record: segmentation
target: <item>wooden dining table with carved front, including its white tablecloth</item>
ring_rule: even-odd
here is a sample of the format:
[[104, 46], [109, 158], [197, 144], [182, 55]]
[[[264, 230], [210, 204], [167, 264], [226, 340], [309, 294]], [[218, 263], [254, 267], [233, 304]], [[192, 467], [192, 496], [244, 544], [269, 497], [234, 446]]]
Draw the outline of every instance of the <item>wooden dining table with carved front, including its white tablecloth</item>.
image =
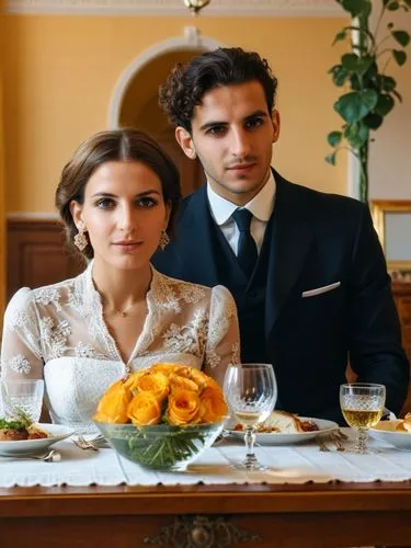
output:
[[60, 463], [0, 457], [0, 546], [411, 546], [411, 452], [327, 445], [256, 447], [271, 472], [255, 473], [233, 470], [238, 439], [186, 472], [144, 470], [70, 439], [55, 445]]

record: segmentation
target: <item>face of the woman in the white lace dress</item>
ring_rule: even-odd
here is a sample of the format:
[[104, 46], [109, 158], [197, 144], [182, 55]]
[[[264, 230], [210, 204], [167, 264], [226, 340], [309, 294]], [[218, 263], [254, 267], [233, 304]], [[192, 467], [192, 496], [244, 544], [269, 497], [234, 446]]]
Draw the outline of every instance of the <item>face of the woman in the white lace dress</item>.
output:
[[83, 204], [72, 202], [70, 208], [77, 228], [88, 232], [94, 260], [127, 270], [150, 261], [170, 217], [160, 179], [137, 161], [101, 164], [85, 185]]

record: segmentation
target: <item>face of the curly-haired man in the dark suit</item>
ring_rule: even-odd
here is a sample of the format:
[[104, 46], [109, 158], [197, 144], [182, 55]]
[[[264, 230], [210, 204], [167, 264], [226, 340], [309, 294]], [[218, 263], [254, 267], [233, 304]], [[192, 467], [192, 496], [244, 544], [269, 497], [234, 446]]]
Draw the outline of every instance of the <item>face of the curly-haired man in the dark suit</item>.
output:
[[198, 157], [213, 190], [238, 205], [266, 183], [278, 134], [278, 113], [271, 115], [256, 80], [210, 90], [194, 110], [191, 135], [182, 127], [175, 133], [186, 156]]

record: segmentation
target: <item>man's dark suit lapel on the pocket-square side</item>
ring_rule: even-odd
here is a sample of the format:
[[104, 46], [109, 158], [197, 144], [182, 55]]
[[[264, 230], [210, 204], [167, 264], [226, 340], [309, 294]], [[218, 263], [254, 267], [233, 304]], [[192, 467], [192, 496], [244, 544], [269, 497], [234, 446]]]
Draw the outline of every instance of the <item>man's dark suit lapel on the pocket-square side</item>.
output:
[[276, 196], [267, 272], [266, 339], [297, 281], [312, 241], [312, 230], [305, 216], [298, 186], [276, 172], [274, 176]]

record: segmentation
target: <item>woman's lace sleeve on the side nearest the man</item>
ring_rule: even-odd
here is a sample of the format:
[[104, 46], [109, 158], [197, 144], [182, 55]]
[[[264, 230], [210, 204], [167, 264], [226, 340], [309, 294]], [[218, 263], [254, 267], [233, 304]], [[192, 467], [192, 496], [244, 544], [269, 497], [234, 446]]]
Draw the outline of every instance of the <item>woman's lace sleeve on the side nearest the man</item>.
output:
[[204, 372], [221, 386], [228, 365], [240, 362], [237, 307], [230, 292], [218, 285], [212, 289]]

